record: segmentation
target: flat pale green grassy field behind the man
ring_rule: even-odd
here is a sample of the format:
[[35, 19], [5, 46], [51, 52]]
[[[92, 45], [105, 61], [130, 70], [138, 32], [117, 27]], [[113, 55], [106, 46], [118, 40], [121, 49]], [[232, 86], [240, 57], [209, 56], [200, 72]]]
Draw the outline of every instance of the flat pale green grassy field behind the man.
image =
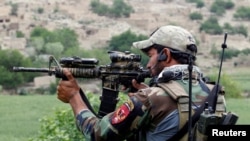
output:
[[[228, 111], [239, 116], [237, 124], [250, 124], [250, 99], [227, 99]], [[70, 108], [55, 95], [0, 95], [0, 141], [27, 141], [39, 130], [39, 119], [55, 109]]]

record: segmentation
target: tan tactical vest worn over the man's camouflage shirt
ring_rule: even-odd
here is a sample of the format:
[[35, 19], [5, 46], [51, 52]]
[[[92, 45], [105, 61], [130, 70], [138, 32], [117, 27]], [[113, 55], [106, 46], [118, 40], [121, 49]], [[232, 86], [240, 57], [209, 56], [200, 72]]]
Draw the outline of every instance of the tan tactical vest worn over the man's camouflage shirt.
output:
[[[205, 84], [205, 83], [204, 83]], [[189, 94], [185, 91], [183, 86], [181, 86], [176, 81], [169, 81], [168, 83], [158, 83], [157, 86], [161, 87], [165, 90], [175, 101], [177, 101], [178, 111], [179, 111], [179, 129], [182, 129], [184, 125], [188, 122], [189, 116]], [[213, 84], [205, 84], [209, 91], [212, 91], [215, 85]], [[211, 93], [209, 93], [211, 94]], [[225, 112], [225, 99], [224, 99], [224, 91], [221, 89], [218, 92], [218, 99], [216, 103], [216, 116], [221, 116], [222, 113]], [[192, 115], [194, 115], [195, 111], [192, 110]], [[192, 129], [193, 139], [195, 141], [206, 141], [207, 136], [198, 131], [198, 124], [195, 123], [194, 128]], [[180, 139], [180, 141], [187, 141], [188, 133]]]

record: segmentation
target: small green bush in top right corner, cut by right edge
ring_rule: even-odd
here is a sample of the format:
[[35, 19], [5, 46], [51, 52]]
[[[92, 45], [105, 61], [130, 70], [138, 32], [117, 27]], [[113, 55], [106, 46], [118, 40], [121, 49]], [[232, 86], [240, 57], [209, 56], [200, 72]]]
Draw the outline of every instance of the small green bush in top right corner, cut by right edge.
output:
[[250, 20], [250, 7], [241, 6], [237, 8], [236, 13], [234, 14], [234, 18]]

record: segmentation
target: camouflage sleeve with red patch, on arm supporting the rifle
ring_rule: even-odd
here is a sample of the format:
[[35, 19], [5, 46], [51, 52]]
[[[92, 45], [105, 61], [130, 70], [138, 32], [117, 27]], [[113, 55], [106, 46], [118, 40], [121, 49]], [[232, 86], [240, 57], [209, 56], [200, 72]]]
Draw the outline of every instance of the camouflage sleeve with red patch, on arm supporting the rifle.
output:
[[142, 116], [145, 117], [142, 103], [136, 97], [131, 97], [116, 111], [101, 119], [89, 110], [83, 110], [76, 116], [76, 124], [86, 140], [119, 141], [131, 135]]

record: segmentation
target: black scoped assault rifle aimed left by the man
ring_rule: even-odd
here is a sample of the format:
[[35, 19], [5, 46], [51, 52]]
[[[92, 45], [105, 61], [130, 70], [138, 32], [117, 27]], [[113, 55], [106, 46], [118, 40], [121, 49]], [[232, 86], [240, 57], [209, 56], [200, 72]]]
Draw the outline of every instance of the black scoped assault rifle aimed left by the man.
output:
[[[63, 68], [70, 70], [75, 78], [99, 78], [102, 80], [102, 95], [100, 97], [101, 105], [98, 117], [103, 117], [107, 113], [113, 112], [118, 102], [119, 86], [124, 85], [128, 91], [134, 92], [132, 79], [137, 82], [143, 82], [145, 78], [150, 77], [148, 70], [143, 69], [140, 64], [141, 56], [128, 51], [108, 51], [111, 63], [98, 66], [99, 60], [96, 58], [64, 57], [58, 62], [53, 56], [49, 58], [49, 68], [27, 68], [14, 66], [14, 72], [41, 72], [55, 75], [57, 78], [66, 79], [63, 74]], [[55, 66], [52, 66], [55, 63]], [[80, 91], [82, 99], [91, 108], [87, 98]]]

